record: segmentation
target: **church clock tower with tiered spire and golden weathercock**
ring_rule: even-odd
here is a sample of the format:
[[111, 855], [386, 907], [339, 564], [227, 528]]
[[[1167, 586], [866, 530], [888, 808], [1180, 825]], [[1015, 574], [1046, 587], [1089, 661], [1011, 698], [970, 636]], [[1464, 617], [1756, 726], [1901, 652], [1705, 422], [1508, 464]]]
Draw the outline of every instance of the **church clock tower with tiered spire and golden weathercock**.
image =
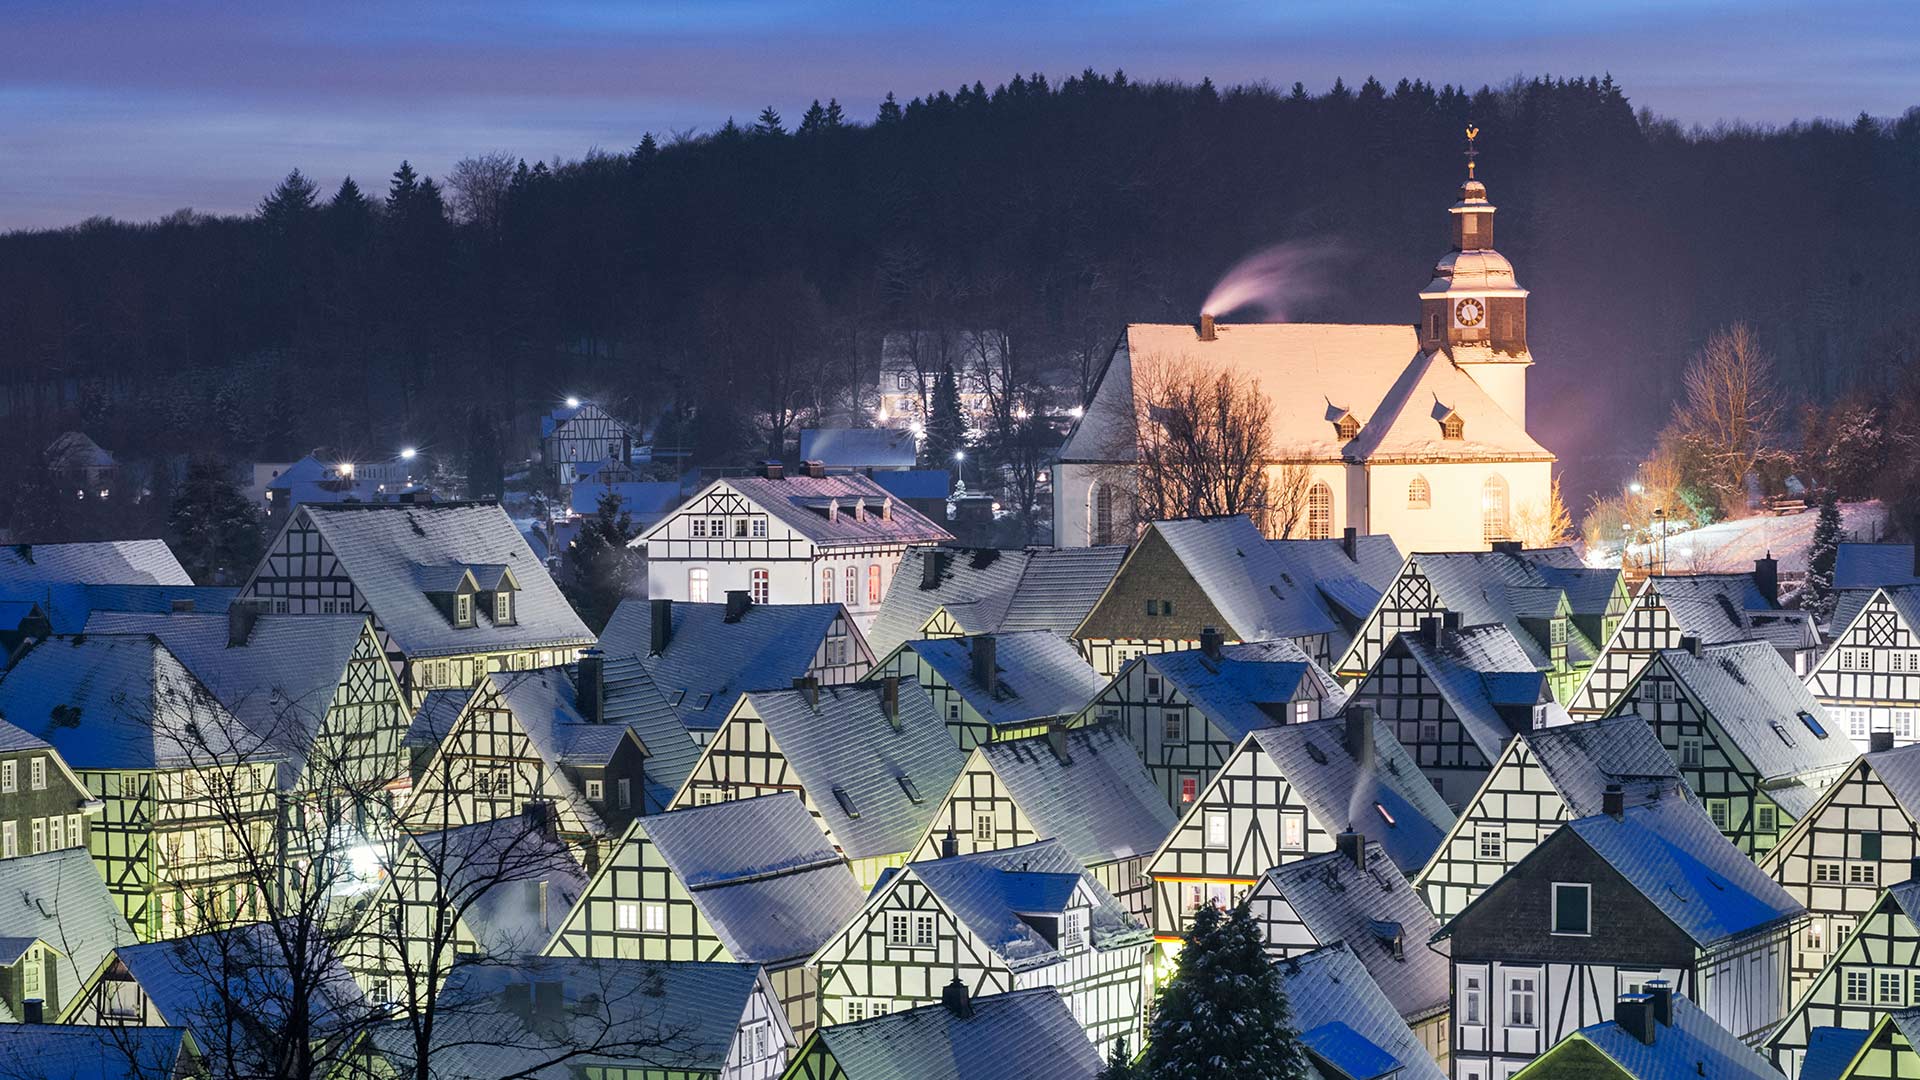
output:
[[1494, 250], [1494, 204], [1475, 177], [1478, 154], [1467, 129], [1467, 183], [1448, 208], [1453, 250], [1434, 265], [1434, 279], [1421, 290], [1421, 348], [1446, 352], [1473, 377], [1494, 404], [1526, 427], [1526, 290], [1513, 279], [1513, 263]]

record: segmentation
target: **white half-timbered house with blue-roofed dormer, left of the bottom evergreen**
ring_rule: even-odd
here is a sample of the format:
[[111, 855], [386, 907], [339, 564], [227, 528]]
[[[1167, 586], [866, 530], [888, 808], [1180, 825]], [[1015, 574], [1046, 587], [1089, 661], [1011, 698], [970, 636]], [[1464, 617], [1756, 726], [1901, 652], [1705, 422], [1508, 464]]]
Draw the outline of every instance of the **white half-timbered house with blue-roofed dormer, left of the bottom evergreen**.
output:
[[1087, 1038], [1139, 1045], [1152, 938], [1058, 840], [908, 863], [814, 955], [820, 1022], [1058, 986]]

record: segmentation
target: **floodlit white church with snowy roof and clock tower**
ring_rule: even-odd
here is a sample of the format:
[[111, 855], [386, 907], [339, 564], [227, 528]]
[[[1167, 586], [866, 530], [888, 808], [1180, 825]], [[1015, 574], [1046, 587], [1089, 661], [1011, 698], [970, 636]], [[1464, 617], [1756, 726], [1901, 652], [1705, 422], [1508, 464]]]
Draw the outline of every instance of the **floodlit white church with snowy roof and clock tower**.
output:
[[[1526, 432], [1526, 290], [1494, 250], [1473, 177], [1450, 208], [1453, 250], [1415, 325], [1135, 323], [1054, 469], [1054, 542], [1125, 542], [1135, 363], [1227, 365], [1273, 402], [1267, 471], [1306, 467], [1294, 536], [1386, 532], [1402, 552], [1471, 552], [1544, 513], [1553, 454]], [[1298, 477], [1298, 469], [1292, 469]]]

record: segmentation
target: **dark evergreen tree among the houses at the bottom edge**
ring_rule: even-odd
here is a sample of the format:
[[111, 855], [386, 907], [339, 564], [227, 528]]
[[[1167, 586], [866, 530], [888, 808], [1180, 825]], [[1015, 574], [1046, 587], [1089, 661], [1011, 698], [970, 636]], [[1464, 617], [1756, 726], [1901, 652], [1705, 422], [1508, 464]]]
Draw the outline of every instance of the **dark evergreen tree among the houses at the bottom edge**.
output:
[[1202, 905], [1160, 990], [1140, 1068], [1154, 1080], [1300, 1080], [1306, 1055], [1281, 974], [1246, 905]]

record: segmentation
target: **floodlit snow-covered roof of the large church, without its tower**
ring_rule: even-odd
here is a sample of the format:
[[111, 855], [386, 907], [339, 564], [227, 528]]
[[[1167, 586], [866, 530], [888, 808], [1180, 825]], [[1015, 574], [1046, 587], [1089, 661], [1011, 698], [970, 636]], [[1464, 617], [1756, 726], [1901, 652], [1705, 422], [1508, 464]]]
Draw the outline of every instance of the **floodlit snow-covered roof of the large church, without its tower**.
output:
[[[1200, 340], [1192, 323], [1135, 323], [1062, 461], [1131, 461], [1139, 363], [1198, 363], [1258, 380], [1273, 402], [1275, 459], [1553, 459], [1446, 354], [1421, 352], [1411, 325], [1219, 323], [1215, 340]], [[1465, 438], [1442, 438], [1436, 407], [1465, 421]], [[1332, 409], [1361, 421], [1356, 438], [1340, 440]]]

